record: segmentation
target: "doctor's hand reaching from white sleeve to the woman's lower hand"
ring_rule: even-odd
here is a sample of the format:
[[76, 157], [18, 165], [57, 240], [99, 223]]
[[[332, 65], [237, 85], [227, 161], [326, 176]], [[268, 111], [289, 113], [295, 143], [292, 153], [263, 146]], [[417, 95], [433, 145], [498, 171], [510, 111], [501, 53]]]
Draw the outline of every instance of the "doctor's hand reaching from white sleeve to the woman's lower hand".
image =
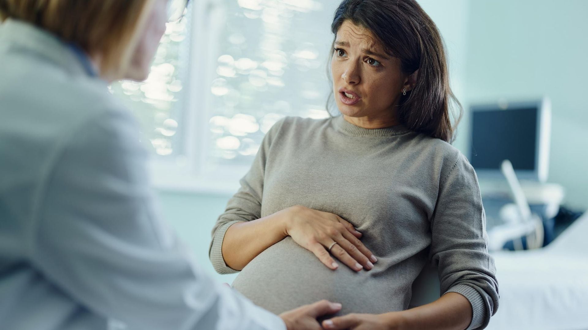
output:
[[316, 318], [323, 315], [334, 314], [341, 310], [341, 304], [326, 300], [317, 301], [314, 304], [305, 305], [292, 311], [280, 314], [280, 318], [286, 324], [288, 330], [322, 330]]

